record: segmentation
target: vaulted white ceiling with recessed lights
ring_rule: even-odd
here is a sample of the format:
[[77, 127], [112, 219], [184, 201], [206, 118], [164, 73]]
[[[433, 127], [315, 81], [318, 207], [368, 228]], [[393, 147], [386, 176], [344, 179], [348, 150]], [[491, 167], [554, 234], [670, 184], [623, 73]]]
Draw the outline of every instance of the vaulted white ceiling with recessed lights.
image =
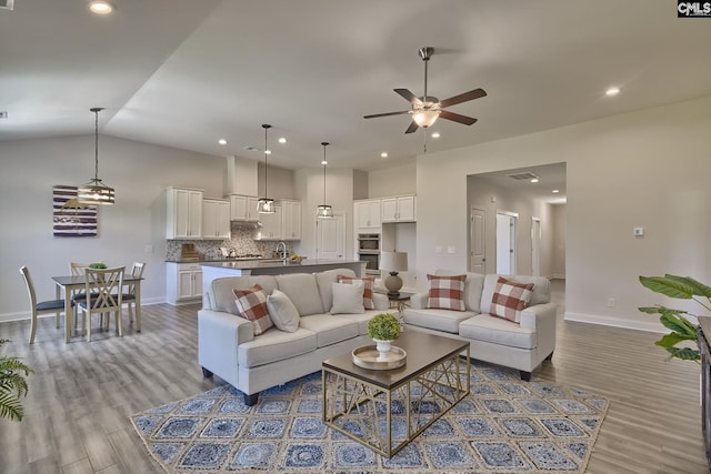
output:
[[[0, 10], [0, 140], [100, 132], [217, 157], [374, 170], [425, 133], [392, 90], [488, 95], [452, 107], [429, 152], [711, 94], [711, 18], [669, 0], [14, 0]], [[621, 92], [609, 98], [608, 87]], [[287, 138], [286, 144], [277, 139]], [[227, 139], [227, 145], [218, 139]], [[381, 152], [388, 152], [383, 159]], [[472, 159], [475, 159], [472, 158]]]

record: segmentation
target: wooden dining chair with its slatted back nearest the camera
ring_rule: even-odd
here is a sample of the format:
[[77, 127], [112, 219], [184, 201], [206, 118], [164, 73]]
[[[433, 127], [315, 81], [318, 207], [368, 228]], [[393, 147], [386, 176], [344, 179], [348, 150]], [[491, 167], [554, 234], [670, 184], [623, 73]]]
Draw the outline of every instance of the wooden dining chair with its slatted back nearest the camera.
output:
[[[126, 266], [113, 269], [86, 269], [87, 284], [84, 294], [87, 299], [79, 303], [78, 309], [82, 314], [81, 329], [87, 333], [87, 341], [91, 341], [91, 319], [93, 314], [106, 313], [107, 326], [110, 325], [111, 313], [114, 313], [116, 326], [119, 336], [123, 336], [121, 310], [123, 293], [123, 273]], [[100, 320], [101, 321], [101, 320]]]

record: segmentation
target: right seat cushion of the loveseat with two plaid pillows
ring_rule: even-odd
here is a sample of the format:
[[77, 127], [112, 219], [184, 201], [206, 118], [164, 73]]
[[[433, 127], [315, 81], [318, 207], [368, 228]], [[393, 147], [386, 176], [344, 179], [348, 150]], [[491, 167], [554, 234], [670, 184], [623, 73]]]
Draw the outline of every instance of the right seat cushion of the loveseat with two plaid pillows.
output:
[[459, 325], [459, 335], [473, 341], [528, 350], [534, 349], [537, 341], [534, 330], [521, 327], [517, 323], [491, 314], [477, 314], [462, 321]]

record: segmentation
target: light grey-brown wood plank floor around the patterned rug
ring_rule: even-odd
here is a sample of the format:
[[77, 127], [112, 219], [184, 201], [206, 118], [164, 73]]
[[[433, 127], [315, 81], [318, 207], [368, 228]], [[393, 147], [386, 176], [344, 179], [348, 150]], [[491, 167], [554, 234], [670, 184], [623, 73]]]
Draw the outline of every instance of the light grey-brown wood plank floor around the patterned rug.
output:
[[[553, 289], [558, 346], [533, 377], [610, 400], [588, 473], [708, 473], [700, 366], [665, 362], [658, 334], [564, 322], [562, 282]], [[36, 371], [24, 421], [0, 420], [0, 472], [163, 473], [128, 416], [214, 387], [197, 362], [197, 310], [144, 306], [142, 333], [96, 333], [91, 343], [64, 344], [53, 319], [31, 346], [28, 322], [0, 324], [0, 337], [13, 340], [3, 353]]]

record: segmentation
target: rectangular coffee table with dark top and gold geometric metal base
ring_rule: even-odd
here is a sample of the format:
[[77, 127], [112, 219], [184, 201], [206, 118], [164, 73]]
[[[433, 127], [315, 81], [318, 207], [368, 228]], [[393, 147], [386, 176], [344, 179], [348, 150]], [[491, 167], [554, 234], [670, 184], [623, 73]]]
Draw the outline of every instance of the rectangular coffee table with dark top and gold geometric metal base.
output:
[[362, 369], [349, 352], [321, 371], [323, 423], [385, 457], [469, 394], [469, 342], [408, 331], [393, 345], [407, 352], [402, 367]]

